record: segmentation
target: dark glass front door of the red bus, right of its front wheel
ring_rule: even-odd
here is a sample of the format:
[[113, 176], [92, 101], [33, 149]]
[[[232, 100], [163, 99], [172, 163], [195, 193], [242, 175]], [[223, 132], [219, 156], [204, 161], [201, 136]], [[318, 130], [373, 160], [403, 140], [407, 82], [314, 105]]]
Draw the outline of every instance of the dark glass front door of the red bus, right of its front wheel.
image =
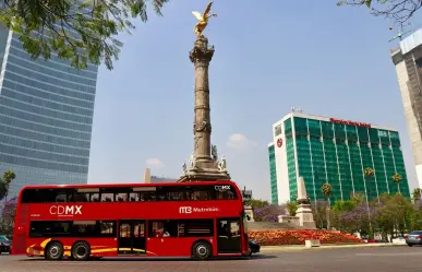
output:
[[217, 253], [241, 253], [240, 218], [217, 220]]

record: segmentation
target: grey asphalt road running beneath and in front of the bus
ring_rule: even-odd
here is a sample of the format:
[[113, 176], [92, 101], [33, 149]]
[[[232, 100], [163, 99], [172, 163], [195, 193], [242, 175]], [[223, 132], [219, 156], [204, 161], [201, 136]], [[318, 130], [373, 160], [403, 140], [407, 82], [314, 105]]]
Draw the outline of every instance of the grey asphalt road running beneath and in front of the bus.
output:
[[376, 247], [312, 249], [260, 253], [238, 260], [121, 260], [88, 262], [45, 261], [16, 256], [0, 256], [0, 272], [420, 272], [422, 247]]

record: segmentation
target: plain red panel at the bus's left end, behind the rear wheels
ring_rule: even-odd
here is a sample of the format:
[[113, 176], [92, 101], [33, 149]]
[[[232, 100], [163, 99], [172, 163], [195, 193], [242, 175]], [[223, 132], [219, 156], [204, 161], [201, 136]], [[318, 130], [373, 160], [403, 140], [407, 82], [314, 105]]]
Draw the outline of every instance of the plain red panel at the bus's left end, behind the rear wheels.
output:
[[25, 255], [28, 234], [29, 206], [17, 204], [15, 221], [13, 226], [12, 255]]

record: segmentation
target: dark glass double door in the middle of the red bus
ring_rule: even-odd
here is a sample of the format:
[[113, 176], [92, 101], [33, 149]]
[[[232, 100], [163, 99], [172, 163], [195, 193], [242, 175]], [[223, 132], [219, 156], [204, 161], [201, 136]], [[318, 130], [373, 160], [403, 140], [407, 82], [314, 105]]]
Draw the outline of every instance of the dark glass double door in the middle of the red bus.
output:
[[145, 255], [145, 221], [120, 221], [118, 244], [119, 255]]

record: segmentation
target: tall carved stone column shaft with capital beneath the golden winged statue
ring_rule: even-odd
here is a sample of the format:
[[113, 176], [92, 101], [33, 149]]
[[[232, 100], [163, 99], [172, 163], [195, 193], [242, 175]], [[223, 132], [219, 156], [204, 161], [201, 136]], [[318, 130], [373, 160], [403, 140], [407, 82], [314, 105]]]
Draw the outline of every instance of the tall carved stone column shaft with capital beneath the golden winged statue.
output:
[[209, 118], [208, 67], [214, 56], [214, 47], [208, 48], [208, 39], [196, 39], [190, 59], [195, 66], [195, 108], [193, 120], [194, 154], [198, 166], [212, 162]]

